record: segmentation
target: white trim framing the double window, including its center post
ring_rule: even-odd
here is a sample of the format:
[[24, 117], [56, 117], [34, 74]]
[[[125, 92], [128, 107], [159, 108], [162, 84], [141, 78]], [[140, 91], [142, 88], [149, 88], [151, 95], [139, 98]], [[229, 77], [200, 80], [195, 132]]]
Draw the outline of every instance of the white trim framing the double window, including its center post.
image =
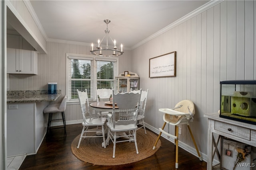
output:
[[[68, 64], [69, 64], [69, 59], [82, 59], [82, 60], [92, 60], [93, 61], [93, 69], [92, 69], [92, 82], [94, 84], [93, 86], [93, 91], [96, 92], [96, 78], [94, 77], [94, 68], [96, 67], [96, 61], [116, 61], [116, 75], [114, 75], [114, 79], [116, 78], [116, 76], [118, 76], [118, 68], [119, 68], [119, 58], [118, 57], [99, 57], [99, 56], [94, 56], [94, 55], [83, 55], [83, 54], [74, 54], [74, 53], [66, 53], [66, 95], [68, 95], [68, 72], [69, 72], [69, 68], [68, 68]], [[96, 99], [93, 100], [89, 100], [89, 101], [96, 101]], [[79, 100], [69, 100], [67, 103], [74, 103], [76, 104], [77, 102], [79, 102]]]

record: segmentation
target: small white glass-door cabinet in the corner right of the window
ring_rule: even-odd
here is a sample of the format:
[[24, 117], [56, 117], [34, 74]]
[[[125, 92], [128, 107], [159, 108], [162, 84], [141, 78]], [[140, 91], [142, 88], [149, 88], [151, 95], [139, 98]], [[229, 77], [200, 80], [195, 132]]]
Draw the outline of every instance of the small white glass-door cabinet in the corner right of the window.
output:
[[139, 79], [138, 74], [134, 72], [128, 72], [128, 76], [124, 73], [119, 74], [117, 77], [117, 92], [125, 93], [130, 90], [139, 90]]

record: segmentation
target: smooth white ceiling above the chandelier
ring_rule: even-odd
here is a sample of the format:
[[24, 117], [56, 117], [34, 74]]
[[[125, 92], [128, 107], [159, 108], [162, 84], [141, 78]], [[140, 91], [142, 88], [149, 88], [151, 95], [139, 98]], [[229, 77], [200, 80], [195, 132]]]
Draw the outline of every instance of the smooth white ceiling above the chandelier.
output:
[[[30, 0], [46, 40], [97, 43], [105, 34], [132, 48], [209, 0]], [[106, 38], [105, 38], [106, 40]], [[110, 40], [108, 41], [109, 45]], [[106, 44], [104, 41], [102, 44]]]

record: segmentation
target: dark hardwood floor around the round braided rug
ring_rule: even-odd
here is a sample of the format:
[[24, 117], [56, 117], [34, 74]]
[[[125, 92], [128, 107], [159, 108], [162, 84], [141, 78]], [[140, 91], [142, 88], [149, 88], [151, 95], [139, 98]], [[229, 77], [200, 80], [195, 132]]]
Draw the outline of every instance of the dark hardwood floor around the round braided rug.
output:
[[[163, 137], [160, 138], [162, 146], [156, 154], [139, 162], [120, 166], [85, 164], [70, 149], [73, 139], [81, 131], [81, 124], [67, 125], [66, 136], [63, 128], [51, 130], [37, 154], [27, 156], [20, 170], [176, 170], [175, 146]], [[206, 162], [179, 148], [178, 170], [206, 170]]]

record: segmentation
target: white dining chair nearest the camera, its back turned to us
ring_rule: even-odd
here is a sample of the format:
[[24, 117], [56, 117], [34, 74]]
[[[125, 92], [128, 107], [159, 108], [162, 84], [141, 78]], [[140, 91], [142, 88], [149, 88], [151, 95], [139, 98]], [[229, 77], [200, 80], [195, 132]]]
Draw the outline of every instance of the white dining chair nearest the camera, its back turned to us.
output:
[[[141, 91], [141, 90], [140, 90]], [[111, 140], [114, 144], [113, 146], [113, 158], [115, 158], [116, 143], [120, 142], [134, 142], [136, 153], [138, 154], [138, 146], [136, 141], [136, 129], [137, 129], [137, 116], [140, 106], [140, 93], [117, 93], [114, 94], [113, 90], [113, 112], [108, 113], [108, 138], [107, 145]], [[118, 112], [116, 112], [115, 104], [118, 106]], [[137, 107], [138, 106], [138, 107]], [[135, 115], [134, 115], [134, 111]], [[122, 134], [124, 135], [120, 135]], [[126, 132], [126, 133], [125, 133]], [[117, 139], [117, 133], [118, 138]]]

